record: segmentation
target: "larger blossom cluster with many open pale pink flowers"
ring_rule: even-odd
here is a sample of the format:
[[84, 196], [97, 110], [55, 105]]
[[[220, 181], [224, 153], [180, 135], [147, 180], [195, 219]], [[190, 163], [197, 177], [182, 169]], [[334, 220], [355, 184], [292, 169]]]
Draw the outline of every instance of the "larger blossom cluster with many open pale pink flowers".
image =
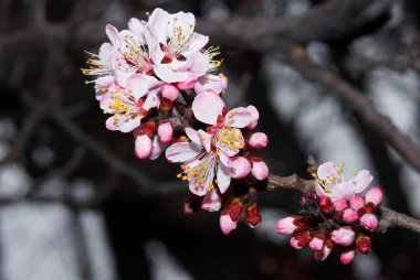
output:
[[[191, 13], [170, 14], [156, 9], [148, 21], [130, 19], [128, 30], [106, 26], [109, 43], [91, 54], [82, 73], [94, 76], [96, 99], [111, 117], [106, 128], [132, 132], [139, 159], [181, 163], [178, 177], [188, 181], [192, 195], [185, 211], [219, 211], [223, 233], [238, 223], [245, 205], [245, 222], [261, 222], [255, 197], [238, 196], [233, 181], [262, 181], [269, 174], [255, 150], [267, 137], [252, 132], [255, 107], [228, 109], [221, 98], [228, 79], [212, 74], [221, 64], [218, 47], [195, 32]], [[179, 126], [181, 123], [181, 126]], [[228, 203], [231, 201], [230, 203]]]

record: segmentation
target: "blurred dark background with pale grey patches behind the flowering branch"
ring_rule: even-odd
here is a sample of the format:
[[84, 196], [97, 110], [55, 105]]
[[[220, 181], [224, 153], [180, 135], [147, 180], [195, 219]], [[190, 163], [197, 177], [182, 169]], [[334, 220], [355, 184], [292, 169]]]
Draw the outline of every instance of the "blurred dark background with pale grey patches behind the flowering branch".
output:
[[156, 7], [193, 12], [221, 46], [225, 100], [259, 108], [272, 173], [307, 177], [308, 154], [344, 161], [420, 217], [419, 170], [339, 94], [368, 97], [420, 146], [420, 1], [0, 0], [0, 279], [420, 279], [420, 238], [403, 229], [348, 266], [290, 248], [274, 227], [300, 206], [292, 191], [260, 194], [261, 226], [229, 236], [218, 213], [183, 214], [178, 166], [137, 161], [80, 71], [106, 23]]

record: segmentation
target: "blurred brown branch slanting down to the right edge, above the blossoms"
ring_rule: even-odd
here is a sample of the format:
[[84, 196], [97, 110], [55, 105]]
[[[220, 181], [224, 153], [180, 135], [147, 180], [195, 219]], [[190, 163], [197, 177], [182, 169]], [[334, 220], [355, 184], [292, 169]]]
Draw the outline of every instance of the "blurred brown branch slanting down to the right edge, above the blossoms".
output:
[[323, 85], [328, 89], [328, 93], [346, 101], [367, 125], [420, 172], [419, 148], [407, 136], [402, 134], [388, 117], [381, 115], [364, 93], [349, 85], [338, 75], [312, 63], [301, 47], [291, 49], [288, 54], [279, 53], [276, 56], [300, 72], [307, 80]]

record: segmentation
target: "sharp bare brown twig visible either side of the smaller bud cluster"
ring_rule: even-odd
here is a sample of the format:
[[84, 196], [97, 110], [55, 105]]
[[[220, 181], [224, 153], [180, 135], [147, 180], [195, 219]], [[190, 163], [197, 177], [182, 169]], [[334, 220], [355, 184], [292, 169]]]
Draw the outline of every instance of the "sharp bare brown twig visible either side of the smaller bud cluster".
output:
[[[314, 190], [313, 180], [304, 180], [297, 175], [292, 176], [277, 176], [270, 174], [266, 182], [267, 191], [274, 191], [276, 189], [296, 190], [300, 192], [306, 192]], [[408, 230], [420, 234], [420, 220], [409, 217], [406, 214], [398, 213], [386, 206], [380, 206], [380, 223], [378, 231], [385, 233], [391, 227], [401, 227]]]

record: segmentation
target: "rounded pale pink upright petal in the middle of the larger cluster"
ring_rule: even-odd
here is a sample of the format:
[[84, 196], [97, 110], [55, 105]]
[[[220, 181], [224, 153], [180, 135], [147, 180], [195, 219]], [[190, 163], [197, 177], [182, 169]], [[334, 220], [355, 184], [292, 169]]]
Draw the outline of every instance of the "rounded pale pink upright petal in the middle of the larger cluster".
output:
[[211, 93], [197, 95], [192, 101], [192, 112], [196, 119], [207, 125], [216, 125], [221, 114], [221, 108], [218, 106], [218, 103], [219, 100]]

